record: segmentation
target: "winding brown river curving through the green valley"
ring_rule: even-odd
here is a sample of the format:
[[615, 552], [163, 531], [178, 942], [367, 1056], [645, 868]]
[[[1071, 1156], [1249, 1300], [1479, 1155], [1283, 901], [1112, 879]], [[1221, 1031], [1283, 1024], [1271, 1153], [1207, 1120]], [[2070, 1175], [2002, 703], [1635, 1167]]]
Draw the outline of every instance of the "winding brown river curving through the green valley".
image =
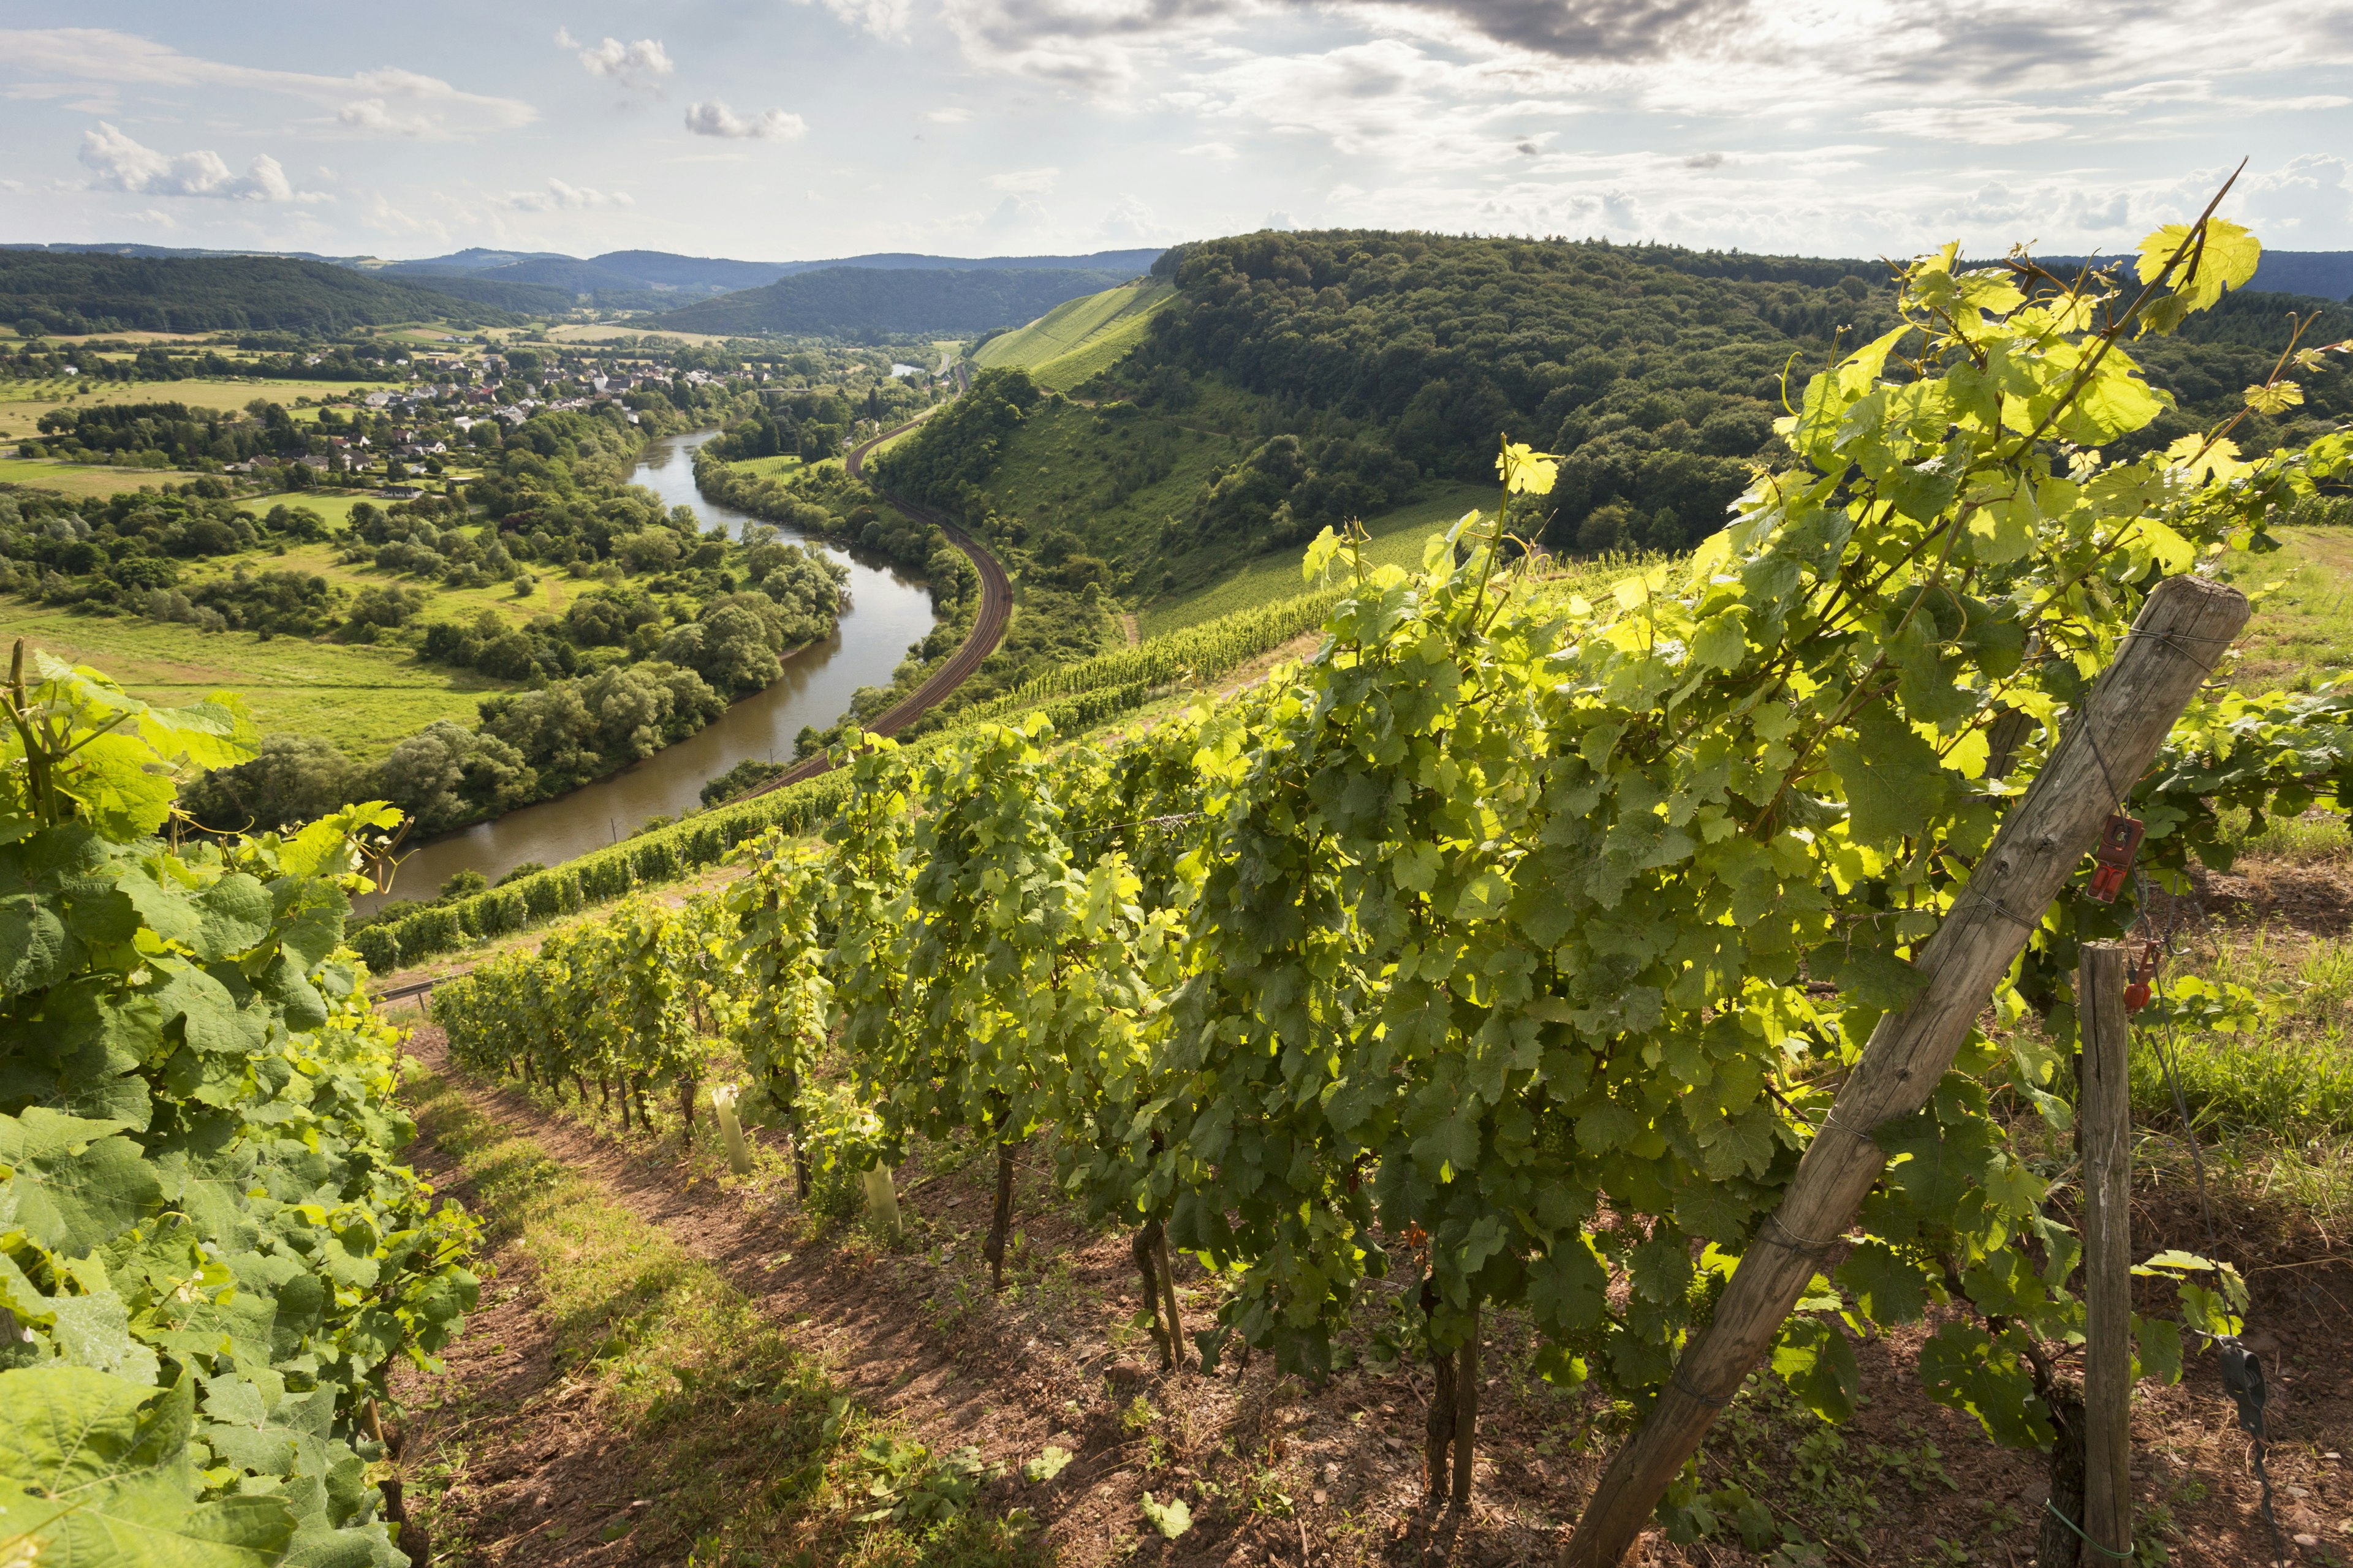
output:
[[[758, 520], [704, 501], [694, 489], [694, 449], [713, 435], [718, 430], [654, 442], [631, 484], [647, 487], [664, 505], [692, 505], [706, 529], [718, 522], [727, 534], [741, 536], [744, 524]], [[826, 729], [849, 710], [849, 696], [859, 686], [887, 686], [906, 646], [932, 630], [929, 590], [878, 557], [845, 552], [793, 529], [784, 529], [784, 536], [849, 567], [849, 609], [833, 637], [786, 654], [784, 675], [767, 691], [729, 705], [718, 722], [678, 745], [569, 795], [424, 844], [400, 863], [391, 896], [433, 898], [442, 882], [464, 870], [496, 882], [525, 860], [555, 865], [614, 844], [649, 816], [678, 816], [699, 806], [704, 783], [746, 757], [791, 762], [793, 736], [802, 724]], [[381, 900], [360, 898], [358, 907], [365, 912], [376, 903]]]

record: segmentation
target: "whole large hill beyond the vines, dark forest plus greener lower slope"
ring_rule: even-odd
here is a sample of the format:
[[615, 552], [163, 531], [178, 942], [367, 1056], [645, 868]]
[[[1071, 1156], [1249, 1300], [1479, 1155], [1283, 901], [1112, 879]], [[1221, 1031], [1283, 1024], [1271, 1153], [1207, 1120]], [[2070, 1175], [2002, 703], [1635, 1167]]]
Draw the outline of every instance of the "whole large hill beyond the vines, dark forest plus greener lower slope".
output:
[[[1544, 543], [1680, 550], [1722, 527], [1793, 388], [1833, 343], [1894, 327], [1882, 261], [1748, 256], [1421, 233], [1257, 233], [1186, 244], [1139, 346], [1080, 404], [988, 371], [882, 465], [998, 538], [1092, 559], [1134, 604], [1238, 562], [1297, 552], [1433, 482], [1492, 482], [1497, 435], [1567, 454]], [[2181, 336], [2132, 346], [2181, 402], [2141, 442], [2240, 407], [2287, 341], [2353, 336], [2353, 310], [2238, 294]], [[2353, 411], [2318, 378], [2247, 447], [2308, 440]]]

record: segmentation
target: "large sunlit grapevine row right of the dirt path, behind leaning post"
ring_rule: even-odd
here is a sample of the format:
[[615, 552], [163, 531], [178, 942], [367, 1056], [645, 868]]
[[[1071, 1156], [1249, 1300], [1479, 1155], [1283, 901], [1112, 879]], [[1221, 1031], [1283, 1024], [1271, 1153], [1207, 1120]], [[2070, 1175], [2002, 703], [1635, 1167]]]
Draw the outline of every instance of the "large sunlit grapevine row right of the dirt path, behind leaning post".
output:
[[[1849, 1420], [1857, 1342], [1925, 1326], [1932, 1401], [1991, 1443], [2064, 1448], [2078, 952], [2228, 863], [2233, 813], [2261, 827], [2353, 785], [2353, 698], [2198, 679], [2245, 618], [2200, 574], [2264, 550], [2353, 442], [2242, 456], [2224, 425], [2104, 456], [2162, 407], [2125, 343], [2254, 256], [2209, 221], [2153, 235], [2129, 292], [1920, 261], [1906, 324], [1807, 381], [1781, 423], [1795, 463], [1687, 562], [1593, 597], [1532, 574], [1513, 541], [1553, 468], [1506, 447], [1499, 508], [1421, 574], [1367, 571], [1325, 531], [1322, 646], [1266, 684], [1106, 748], [1040, 712], [842, 748], [816, 844], [769, 830], [727, 889], [482, 964], [433, 1018], [468, 1072], [593, 1095], [624, 1128], [708, 1105], [739, 1171], [748, 1126], [788, 1150], [802, 1201], [854, 1185], [885, 1232], [894, 1166], [979, 1150], [993, 1288], [1016, 1171], [1049, 1159], [1059, 1201], [1127, 1239], [1172, 1375], [1268, 1354], [1322, 1382], [1386, 1281], [1393, 1342], [1433, 1380], [1426, 1488], [1459, 1512], [1482, 1324], [1529, 1324], [1544, 1380], [1654, 1439], [1645, 1418], [1678, 1399], [1727, 1401], [1678, 1366], [1774, 1248], [1805, 1262], [1765, 1347], [1802, 1408]], [[2297, 397], [2287, 371], [2325, 371], [2322, 350], [2280, 355], [2249, 407]], [[2193, 585], [2221, 621], [2172, 592]], [[2101, 675], [2184, 656], [2172, 708], [2125, 715], [2146, 748], [2111, 731], [2111, 771]], [[2071, 870], [2085, 827], [2012, 910], [1981, 879], [2017, 832], [2049, 844], [2019, 823], [2061, 792], [2146, 842], [2129, 877], [2094, 877]], [[1991, 994], [1927, 1081], [1842, 1126], [1833, 1107], [1937, 994], [1939, 933], [1995, 926]], [[2188, 983], [2144, 1020], [2247, 1009]], [[1847, 1147], [1833, 1133], [1871, 1150], [1868, 1197], [1807, 1239], [1788, 1204], [1812, 1152]], [[1174, 1258], [1209, 1281], [1207, 1328], [1186, 1331]], [[2167, 1293], [2132, 1319], [2139, 1378], [2238, 1345], [2235, 1269], [2162, 1251], [2139, 1272]], [[1687, 1455], [1635, 1519], [1779, 1540]], [[1174, 1540], [1191, 1526], [1165, 1509], [1146, 1495]], [[1617, 1561], [1612, 1528], [1588, 1516], [1572, 1554]]]

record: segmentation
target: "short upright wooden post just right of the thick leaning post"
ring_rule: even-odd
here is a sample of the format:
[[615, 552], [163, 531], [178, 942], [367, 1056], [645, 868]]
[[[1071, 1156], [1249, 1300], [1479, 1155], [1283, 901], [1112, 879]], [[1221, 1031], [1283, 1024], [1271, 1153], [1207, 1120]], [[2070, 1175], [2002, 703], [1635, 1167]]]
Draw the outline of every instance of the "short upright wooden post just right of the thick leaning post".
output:
[[2132, 1018], [2125, 945], [2085, 943], [2075, 969], [2082, 1058], [2082, 1533], [2132, 1549]]

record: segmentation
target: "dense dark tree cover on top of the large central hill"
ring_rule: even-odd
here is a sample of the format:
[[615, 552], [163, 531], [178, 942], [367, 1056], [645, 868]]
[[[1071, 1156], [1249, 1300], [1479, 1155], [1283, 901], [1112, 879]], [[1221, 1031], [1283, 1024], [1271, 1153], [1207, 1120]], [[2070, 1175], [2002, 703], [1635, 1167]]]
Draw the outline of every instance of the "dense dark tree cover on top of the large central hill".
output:
[[[1584, 550], [1685, 548], [1718, 529], [1772, 442], [1784, 369], [1802, 383], [1833, 336], [1852, 346], [1897, 320], [1878, 261], [1671, 247], [1259, 233], [1184, 247], [1158, 270], [1176, 301], [1118, 367], [1139, 400], [1181, 402], [1191, 378], [1217, 376], [1275, 400], [1301, 435], [1369, 435], [1466, 480], [1487, 475], [1511, 430], [1567, 454], [1546, 543]], [[2193, 334], [2141, 341], [2151, 378], [2202, 407], [2139, 440], [2172, 442], [2233, 409], [2299, 303], [2346, 315], [2249, 294]], [[2315, 433], [2348, 411], [2318, 407], [2329, 395], [2344, 393], [2299, 409]]]

